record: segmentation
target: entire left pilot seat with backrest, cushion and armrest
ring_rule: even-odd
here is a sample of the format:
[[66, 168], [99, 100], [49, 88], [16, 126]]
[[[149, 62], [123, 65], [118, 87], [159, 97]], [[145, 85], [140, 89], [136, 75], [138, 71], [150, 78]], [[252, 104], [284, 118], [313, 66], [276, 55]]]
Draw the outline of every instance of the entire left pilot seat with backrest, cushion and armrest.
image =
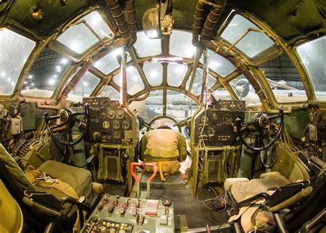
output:
[[[87, 204], [94, 197], [91, 172], [58, 161], [45, 161], [35, 170], [38, 174], [34, 177], [31, 175], [32, 171], [34, 169], [29, 168], [24, 173], [3, 145], [0, 145], [1, 179], [21, 206], [25, 223], [31, 225], [34, 230], [44, 230], [49, 217], [67, 221], [65, 225], [74, 224], [72, 219], [76, 217], [78, 203], [89, 209]], [[52, 195], [41, 195], [41, 199], [36, 199], [36, 194], [40, 192]], [[60, 206], [58, 200], [63, 199], [66, 199], [66, 203]], [[56, 208], [58, 203], [59, 208]]]

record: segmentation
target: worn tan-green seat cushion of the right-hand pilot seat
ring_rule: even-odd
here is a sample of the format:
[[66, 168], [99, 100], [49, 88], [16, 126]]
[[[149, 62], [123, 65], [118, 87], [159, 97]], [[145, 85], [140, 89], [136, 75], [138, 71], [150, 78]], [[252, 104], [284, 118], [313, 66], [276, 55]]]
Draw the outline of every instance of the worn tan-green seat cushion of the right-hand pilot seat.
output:
[[251, 181], [237, 182], [231, 187], [232, 195], [237, 202], [261, 192], [267, 192], [268, 188], [280, 187], [290, 184], [284, 176], [274, 176], [268, 179], [252, 179]]

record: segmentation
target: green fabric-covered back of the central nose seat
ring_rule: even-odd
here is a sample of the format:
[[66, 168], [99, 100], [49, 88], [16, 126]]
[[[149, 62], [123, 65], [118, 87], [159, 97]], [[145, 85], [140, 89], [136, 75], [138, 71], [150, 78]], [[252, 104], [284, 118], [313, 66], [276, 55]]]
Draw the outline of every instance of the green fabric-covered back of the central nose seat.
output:
[[140, 143], [140, 159], [144, 161], [184, 161], [187, 156], [186, 140], [180, 132], [157, 129], [146, 132]]

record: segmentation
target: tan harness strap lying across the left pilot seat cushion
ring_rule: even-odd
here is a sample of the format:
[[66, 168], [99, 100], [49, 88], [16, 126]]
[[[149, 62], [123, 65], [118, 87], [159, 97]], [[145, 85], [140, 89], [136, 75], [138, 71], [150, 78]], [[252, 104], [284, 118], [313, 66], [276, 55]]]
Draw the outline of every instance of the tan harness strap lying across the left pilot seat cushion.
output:
[[33, 185], [41, 186], [43, 188], [52, 187], [73, 199], [78, 199], [78, 194], [68, 183], [65, 183], [59, 179], [53, 179], [51, 176], [45, 174], [45, 172], [35, 170], [32, 166], [28, 166], [28, 170], [26, 170], [24, 173]]

